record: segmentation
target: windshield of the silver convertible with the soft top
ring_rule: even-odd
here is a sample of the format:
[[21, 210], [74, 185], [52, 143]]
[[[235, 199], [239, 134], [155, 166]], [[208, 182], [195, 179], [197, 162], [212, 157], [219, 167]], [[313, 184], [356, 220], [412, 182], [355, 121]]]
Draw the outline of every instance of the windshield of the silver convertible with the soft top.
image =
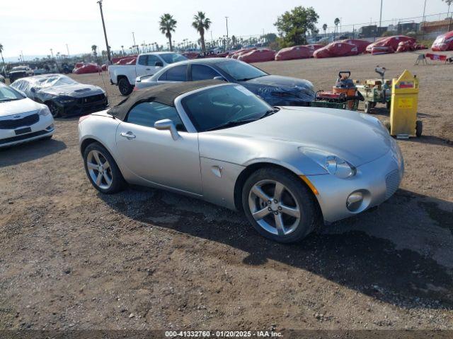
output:
[[261, 119], [275, 109], [241, 85], [222, 85], [188, 95], [181, 103], [199, 132]]

